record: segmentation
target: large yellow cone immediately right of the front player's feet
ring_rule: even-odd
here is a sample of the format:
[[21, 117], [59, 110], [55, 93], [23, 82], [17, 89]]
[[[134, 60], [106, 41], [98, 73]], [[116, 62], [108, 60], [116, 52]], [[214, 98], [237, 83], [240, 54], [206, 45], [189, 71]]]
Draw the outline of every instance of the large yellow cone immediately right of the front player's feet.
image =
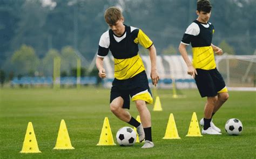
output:
[[180, 139], [172, 113], [170, 114], [163, 139]]

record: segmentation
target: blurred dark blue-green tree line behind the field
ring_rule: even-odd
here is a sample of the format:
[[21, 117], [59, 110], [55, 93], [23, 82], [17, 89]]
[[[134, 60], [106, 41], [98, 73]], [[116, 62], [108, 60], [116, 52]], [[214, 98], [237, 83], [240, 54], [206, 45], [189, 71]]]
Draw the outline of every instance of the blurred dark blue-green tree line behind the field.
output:
[[[62, 75], [68, 75], [67, 69], [76, 67], [77, 52], [91, 62], [100, 35], [109, 29], [104, 11], [113, 5], [122, 8], [125, 24], [142, 28], [149, 35], [158, 54], [178, 54], [186, 27], [197, 18], [196, 2], [1, 0], [1, 71], [8, 72], [9, 76], [34, 74], [35, 71], [44, 76], [52, 75], [53, 57], [60, 56], [65, 63]], [[210, 22], [215, 27], [213, 44], [230, 54], [253, 54], [255, 0], [212, 0], [211, 3]], [[145, 50], [142, 53], [146, 53]], [[83, 63], [83, 66], [89, 64]]]

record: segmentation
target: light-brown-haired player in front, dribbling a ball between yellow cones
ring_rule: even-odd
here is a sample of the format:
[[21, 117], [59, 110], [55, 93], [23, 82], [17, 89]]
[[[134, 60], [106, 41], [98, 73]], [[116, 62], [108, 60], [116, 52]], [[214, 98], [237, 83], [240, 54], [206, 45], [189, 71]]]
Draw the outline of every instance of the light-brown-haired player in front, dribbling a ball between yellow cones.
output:
[[[111, 28], [99, 40], [96, 66], [99, 77], [105, 78], [103, 59], [111, 51], [114, 57], [114, 81], [110, 95], [110, 109], [120, 120], [137, 128], [139, 141], [145, 139], [142, 148], [152, 148], [151, 115], [146, 103], [153, 102], [145, 67], [138, 54], [138, 44], [147, 48], [151, 59], [151, 79], [156, 86], [159, 76], [156, 68], [156, 48], [153, 42], [140, 29], [124, 25], [120, 9], [111, 7], [105, 11], [105, 21]], [[130, 109], [130, 97], [139, 111], [140, 124], [125, 109]]]

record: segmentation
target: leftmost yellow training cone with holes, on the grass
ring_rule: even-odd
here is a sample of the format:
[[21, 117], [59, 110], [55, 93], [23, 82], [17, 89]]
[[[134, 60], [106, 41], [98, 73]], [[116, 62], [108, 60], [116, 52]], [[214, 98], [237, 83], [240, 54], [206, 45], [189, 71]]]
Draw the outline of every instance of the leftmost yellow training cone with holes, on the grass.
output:
[[25, 139], [20, 153], [41, 153], [37, 145], [32, 122], [29, 122], [28, 128], [26, 128]]

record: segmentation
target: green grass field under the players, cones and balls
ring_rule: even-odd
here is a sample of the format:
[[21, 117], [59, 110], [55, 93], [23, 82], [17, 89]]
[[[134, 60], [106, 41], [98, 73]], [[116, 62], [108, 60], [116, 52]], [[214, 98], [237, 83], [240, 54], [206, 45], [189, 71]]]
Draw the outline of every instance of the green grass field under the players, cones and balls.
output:
[[[152, 136], [155, 147], [96, 146], [105, 117], [109, 118], [114, 141], [120, 127], [129, 126], [118, 120], [109, 109], [109, 89], [0, 89], [0, 158], [256, 158], [255, 92], [231, 91], [230, 99], [214, 115], [214, 124], [222, 135], [186, 137], [192, 113], [203, 117], [205, 98], [197, 90], [182, 90], [186, 98], [173, 99], [171, 90], [158, 90], [163, 111], [153, 112]], [[138, 112], [134, 103], [131, 115]], [[173, 113], [179, 140], [163, 140], [167, 121]], [[230, 118], [242, 121], [239, 136], [225, 132]], [[73, 150], [53, 150], [60, 120], [68, 127]], [[41, 154], [21, 154], [26, 127], [31, 121]], [[116, 142], [117, 143], [117, 142]]]

